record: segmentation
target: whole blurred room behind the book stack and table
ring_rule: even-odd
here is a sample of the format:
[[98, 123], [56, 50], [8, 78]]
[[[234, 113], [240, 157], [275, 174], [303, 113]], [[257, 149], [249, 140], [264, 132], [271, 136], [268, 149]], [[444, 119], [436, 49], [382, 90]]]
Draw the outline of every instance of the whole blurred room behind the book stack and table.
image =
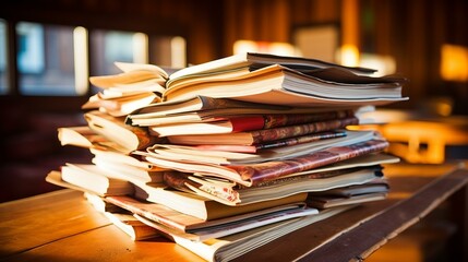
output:
[[368, 116], [409, 163], [467, 158], [466, 0], [15, 0], [0, 8], [1, 201], [55, 190], [57, 128], [84, 123], [115, 61], [182, 68], [242, 51], [400, 74], [408, 102]]

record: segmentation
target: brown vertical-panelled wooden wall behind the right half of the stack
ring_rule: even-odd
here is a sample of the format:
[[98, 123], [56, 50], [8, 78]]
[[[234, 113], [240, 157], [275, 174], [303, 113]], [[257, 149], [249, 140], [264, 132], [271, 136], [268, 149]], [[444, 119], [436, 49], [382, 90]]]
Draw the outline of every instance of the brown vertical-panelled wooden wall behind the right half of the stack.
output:
[[[349, 1], [349, 0], [344, 0]], [[341, 0], [225, 1], [224, 53], [237, 39], [289, 41], [301, 25], [337, 23], [345, 29]], [[431, 97], [448, 96], [455, 114], [468, 114], [468, 83], [445, 82], [440, 74], [443, 44], [468, 47], [466, 0], [358, 0], [358, 43], [365, 52], [392, 56], [410, 82], [404, 90], [418, 108]], [[345, 34], [346, 32], [341, 32]]]

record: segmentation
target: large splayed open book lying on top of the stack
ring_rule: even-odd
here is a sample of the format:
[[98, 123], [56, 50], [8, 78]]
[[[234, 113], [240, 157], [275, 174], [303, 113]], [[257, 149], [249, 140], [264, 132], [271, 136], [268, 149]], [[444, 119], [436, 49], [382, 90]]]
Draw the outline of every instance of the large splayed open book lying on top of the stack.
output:
[[401, 97], [405, 79], [369, 76], [373, 72], [314, 59], [248, 52], [173, 72], [168, 75], [161, 99], [204, 95], [303, 107], [384, 105], [407, 99]]

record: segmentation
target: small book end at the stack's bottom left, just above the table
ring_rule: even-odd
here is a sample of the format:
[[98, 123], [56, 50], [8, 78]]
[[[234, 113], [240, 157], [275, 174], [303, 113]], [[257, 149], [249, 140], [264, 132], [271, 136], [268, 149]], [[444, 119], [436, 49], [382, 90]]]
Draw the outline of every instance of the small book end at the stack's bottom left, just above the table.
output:
[[132, 214], [105, 212], [104, 215], [109, 218], [115, 226], [129, 235], [133, 241], [140, 241], [159, 235], [159, 230], [144, 224]]

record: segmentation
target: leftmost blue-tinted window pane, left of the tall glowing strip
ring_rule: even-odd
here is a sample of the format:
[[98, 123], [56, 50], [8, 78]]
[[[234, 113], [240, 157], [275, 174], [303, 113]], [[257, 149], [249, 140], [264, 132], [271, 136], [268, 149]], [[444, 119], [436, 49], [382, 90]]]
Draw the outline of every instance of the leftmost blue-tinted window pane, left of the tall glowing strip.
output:
[[21, 22], [16, 43], [22, 95], [77, 95], [73, 27]]

